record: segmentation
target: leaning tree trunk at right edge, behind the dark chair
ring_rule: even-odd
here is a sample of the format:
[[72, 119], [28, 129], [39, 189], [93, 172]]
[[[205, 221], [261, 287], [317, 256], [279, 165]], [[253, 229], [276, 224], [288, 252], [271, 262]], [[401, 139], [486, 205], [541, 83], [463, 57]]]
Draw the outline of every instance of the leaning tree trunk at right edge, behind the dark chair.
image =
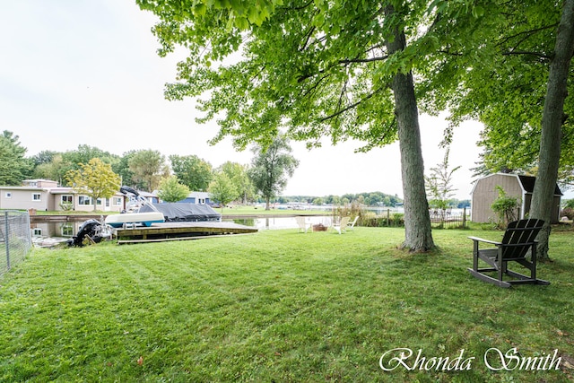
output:
[[544, 220], [544, 228], [538, 235], [538, 257], [548, 260], [548, 239], [550, 221], [554, 208], [554, 188], [558, 178], [561, 152], [561, 127], [564, 123], [564, 99], [568, 95], [567, 82], [570, 61], [574, 54], [574, 0], [565, 0], [554, 57], [550, 64], [550, 73], [546, 87], [544, 111], [542, 117], [542, 135], [538, 158], [538, 176], [532, 196], [530, 216]]

